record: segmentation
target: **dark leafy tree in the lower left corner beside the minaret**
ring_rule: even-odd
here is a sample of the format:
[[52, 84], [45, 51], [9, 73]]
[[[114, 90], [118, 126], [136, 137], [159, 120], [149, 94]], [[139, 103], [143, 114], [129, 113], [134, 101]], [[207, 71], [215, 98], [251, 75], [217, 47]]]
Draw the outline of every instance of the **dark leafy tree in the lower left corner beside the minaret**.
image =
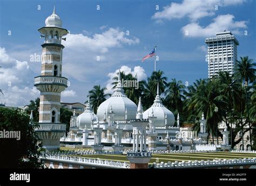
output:
[[43, 168], [43, 163], [38, 161], [43, 148], [35, 127], [38, 124], [20, 109], [0, 108], [0, 131], [20, 131], [19, 140], [0, 139], [1, 168]]

